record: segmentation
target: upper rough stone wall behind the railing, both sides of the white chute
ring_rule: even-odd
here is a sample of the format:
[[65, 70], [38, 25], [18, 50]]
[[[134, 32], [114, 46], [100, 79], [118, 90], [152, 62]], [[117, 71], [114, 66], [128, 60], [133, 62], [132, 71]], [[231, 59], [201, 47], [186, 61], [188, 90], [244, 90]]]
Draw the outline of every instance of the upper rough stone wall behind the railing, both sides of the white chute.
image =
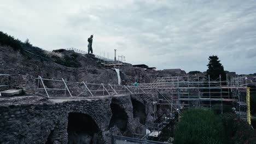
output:
[[[117, 73], [114, 70], [104, 69], [97, 59], [88, 55], [66, 51], [61, 55], [77, 55], [81, 64], [78, 68], [65, 67], [60, 64], [47, 61], [47, 59], [34, 56], [31, 53], [14, 51], [11, 47], [0, 46], [0, 74], [10, 74], [10, 77], [1, 77], [0, 82], [10, 83], [10, 88], [36, 88], [38, 75], [45, 79], [66, 79], [72, 82], [89, 82], [118, 84]], [[176, 73], [175, 73], [176, 74]], [[178, 74], [178, 73], [177, 73]], [[133, 67], [132, 64], [124, 63], [120, 71], [121, 81], [127, 84], [151, 83], [156, 77], [172, 76], [173, 73], [161, 70], [147, 71]]]

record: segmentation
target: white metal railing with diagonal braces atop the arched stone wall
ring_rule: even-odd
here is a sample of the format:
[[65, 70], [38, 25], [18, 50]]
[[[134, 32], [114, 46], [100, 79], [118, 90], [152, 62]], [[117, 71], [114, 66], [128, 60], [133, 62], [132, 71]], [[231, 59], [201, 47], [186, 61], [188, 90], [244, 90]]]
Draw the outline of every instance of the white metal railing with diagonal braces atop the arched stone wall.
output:
[[66, 79], [54, 80], [44, 79], [41, 76], [36, 78], [37, 89], [41, 93], [45, 93], [46, 97], [95, 97], [95, 96], [106, 96], [106, 95], [120, 95], [120, 94], [138, 94], [146, 93], [139, 86], [123, 86], [123, 85], [112, 85], [104, 83], [88, 83], [82, 82], [70, 82]]

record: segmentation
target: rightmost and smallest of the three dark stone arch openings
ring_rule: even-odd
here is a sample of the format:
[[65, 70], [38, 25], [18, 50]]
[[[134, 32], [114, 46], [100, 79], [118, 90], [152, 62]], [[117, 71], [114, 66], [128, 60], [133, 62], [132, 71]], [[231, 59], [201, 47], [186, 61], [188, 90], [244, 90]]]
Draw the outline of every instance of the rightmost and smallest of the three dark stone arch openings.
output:
[[138, 117], [139, 123], [144, 125], [146, 122], [146, 117], [147, 117], [145, 105], [135, 99], [131, 99], [131, 101], [132, 101], [132, 106], [133, 106], [133, 118]]

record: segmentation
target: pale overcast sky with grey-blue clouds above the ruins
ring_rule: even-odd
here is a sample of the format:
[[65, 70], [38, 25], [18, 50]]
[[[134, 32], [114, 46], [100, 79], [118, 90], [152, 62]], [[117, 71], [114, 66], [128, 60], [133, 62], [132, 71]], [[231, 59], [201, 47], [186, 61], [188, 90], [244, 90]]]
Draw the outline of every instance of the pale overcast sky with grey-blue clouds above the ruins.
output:
[[87, 50], [94, 34], [96, 55], [117, 49], [132, 64], [205, 71], [218, 55], [225, 70], [256, 73], [255, 1], [8, 0], [0, 21], [0, 31], [44, 50]]

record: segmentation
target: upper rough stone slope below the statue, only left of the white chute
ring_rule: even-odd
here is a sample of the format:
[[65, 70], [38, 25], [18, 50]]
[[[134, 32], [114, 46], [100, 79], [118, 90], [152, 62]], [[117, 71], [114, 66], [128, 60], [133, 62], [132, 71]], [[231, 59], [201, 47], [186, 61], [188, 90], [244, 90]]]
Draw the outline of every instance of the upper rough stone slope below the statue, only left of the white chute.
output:
[[11, 82], [10, 88], [33, 89], [37, 83], [35, 78], [40, 75], [48, 79], [63, 78], [72, 82], [117, 84], [117, 74], [114, 70], [104, 69], [95, 59], [84, 55], [78, 54], [78, 59], [81, 67], [68, 68], [33, 55], [24, 56], [10, 47], [0, 46], [0, 74], [11, 75], [7, 77], [9, 80], [1, 77], [0, 82]]

